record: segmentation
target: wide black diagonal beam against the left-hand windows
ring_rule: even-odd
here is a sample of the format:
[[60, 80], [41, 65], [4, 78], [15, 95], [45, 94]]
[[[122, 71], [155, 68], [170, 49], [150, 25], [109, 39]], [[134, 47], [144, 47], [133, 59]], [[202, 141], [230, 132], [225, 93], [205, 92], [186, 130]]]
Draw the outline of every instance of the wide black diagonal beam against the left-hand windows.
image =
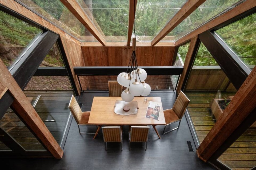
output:
[[19, 87], [23, 90], [32, 78], [37, 68], [42, 63], [59, 35], [51, 31], [43, 32], [41, 36], [27, 49], [17, 62], [10, 69]]

